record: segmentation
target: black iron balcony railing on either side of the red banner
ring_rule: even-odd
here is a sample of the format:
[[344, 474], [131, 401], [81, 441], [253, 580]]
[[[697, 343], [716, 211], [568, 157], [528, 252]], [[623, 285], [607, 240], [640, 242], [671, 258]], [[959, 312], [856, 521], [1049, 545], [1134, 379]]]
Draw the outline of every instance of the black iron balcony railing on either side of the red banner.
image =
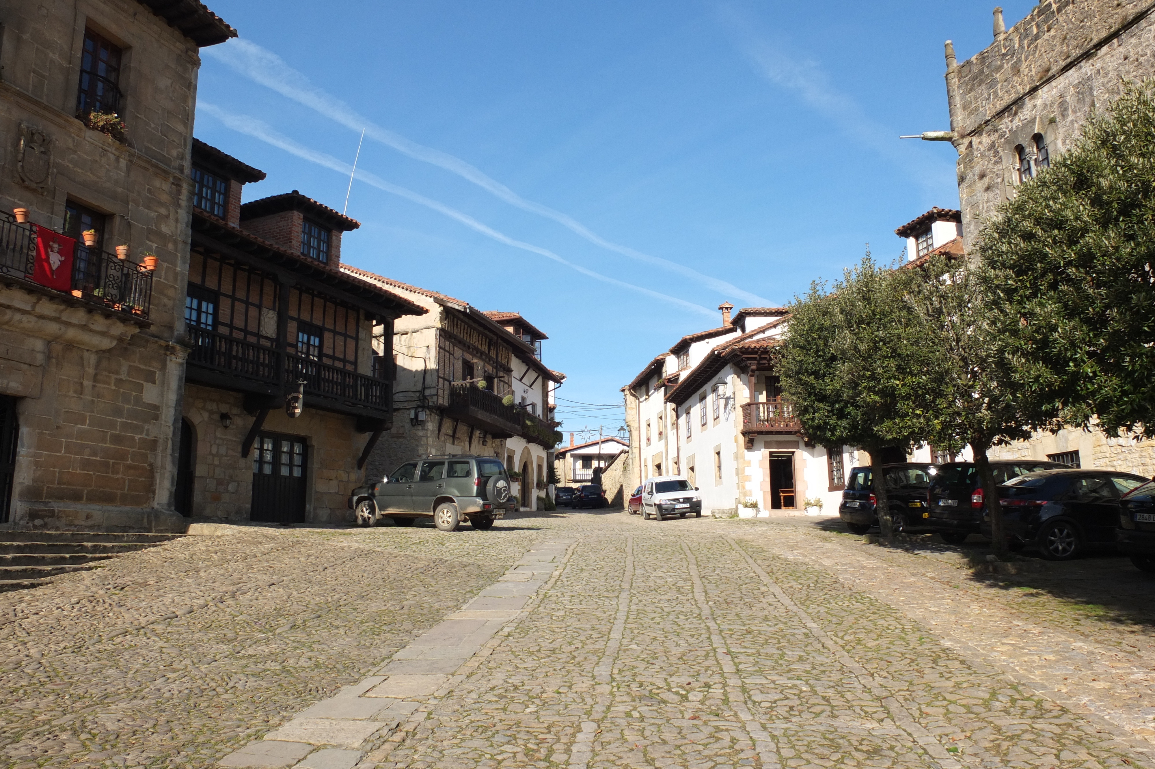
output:
[[[32, 283], [35, 268], [36, 227], [20, 224], [0, 211], [0, 274]], [[127, 259], [77, 242], [69, 293], [107, 309], [147, 319], [152, 304], [152, 272]]]

